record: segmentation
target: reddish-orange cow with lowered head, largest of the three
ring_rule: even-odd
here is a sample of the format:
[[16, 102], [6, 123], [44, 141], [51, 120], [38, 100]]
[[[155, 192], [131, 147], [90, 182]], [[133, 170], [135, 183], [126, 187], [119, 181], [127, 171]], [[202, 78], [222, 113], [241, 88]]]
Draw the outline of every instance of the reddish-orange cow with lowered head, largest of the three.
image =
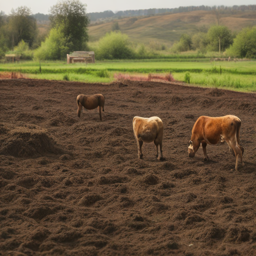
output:
[[202, 144], [204, 160], [209, 157], [206, 154], [206, 145], [214, 145], [226, 141], [229, 150], [236, 158], [235, 169], [238, 162], [242, 163], [243, 147], [239, 145], [241, 120], [235, 115], [225, 115], [220, 117], [200, 116], [194, 123], [192, 135], [188, 146], [188, 156], [194, 157], [195, 152]]

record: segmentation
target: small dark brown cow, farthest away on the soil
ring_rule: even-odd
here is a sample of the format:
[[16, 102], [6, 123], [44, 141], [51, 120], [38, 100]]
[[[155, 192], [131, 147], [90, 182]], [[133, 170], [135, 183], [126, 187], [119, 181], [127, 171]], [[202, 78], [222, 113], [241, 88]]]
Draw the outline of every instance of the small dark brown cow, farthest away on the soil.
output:
[[93, 95], [84, 95], [79, 94], [76, 97], [76, 103], [77, 103], [77, 115], [80, 117], [82, 107], [85, 109], [94, 109], [98, 107], [99, 111], [99, 118], [100, 121], [102, 121], [101, 117], [101, 109], [104, 111], [104, 103], [105, 103], [105, 97], [102, 94], [93, 94]]

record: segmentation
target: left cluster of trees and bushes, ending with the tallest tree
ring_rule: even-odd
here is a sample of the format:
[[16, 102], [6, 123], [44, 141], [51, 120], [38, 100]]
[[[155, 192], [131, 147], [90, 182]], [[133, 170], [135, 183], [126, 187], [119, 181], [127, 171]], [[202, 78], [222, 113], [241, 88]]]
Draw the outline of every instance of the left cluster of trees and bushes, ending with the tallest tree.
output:
[[[31, 58], [60, 59], [64, 53], [83, 50], [88, 41], [86, 5], [79, 0], [62, 0], [51, 6], [50, 31], [42, 36], [36, 19], [27, 6], [20, 6], [10, 15], [0, 12], [0, 57], [9, 50]], [[33, 50], [33, 54], [29, 52]], [[23, 56], [22, 56], [23, 54]]]

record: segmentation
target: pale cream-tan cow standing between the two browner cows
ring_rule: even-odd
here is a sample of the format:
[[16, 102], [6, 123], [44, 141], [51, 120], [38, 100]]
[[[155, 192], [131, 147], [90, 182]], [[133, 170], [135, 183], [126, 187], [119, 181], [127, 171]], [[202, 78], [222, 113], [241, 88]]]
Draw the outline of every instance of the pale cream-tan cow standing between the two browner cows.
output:
[[[132, 121], [134, 137], [138, 146], [138, 158], [142, 159], [141, 147], [143, 142], [150, 143], [154, 141], [156, 148], [157, 160], [162, 159], [162, 135], [163, 124], [162, 120], [157, 116], [149, 118], [134, 116]], [[160, 146], [160, 152], [158, 154], [158, 145]]]

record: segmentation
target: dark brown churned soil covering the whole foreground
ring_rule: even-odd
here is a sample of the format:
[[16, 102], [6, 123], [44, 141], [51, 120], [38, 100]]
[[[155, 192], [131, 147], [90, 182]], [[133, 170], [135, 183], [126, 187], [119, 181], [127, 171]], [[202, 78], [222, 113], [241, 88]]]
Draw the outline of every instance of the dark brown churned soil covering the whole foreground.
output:
[[[125, 86], [123, 85], [125, 83]], [[160, 82], [0, 80], [0, 255], [255, 255], [256, 94]], [[102, 93], [76, 116], [76, 95]], [[188, 158], [200, 115], [241, 121]], [[163, 156], [137, 156], [134, 115], [159, 116]]]

